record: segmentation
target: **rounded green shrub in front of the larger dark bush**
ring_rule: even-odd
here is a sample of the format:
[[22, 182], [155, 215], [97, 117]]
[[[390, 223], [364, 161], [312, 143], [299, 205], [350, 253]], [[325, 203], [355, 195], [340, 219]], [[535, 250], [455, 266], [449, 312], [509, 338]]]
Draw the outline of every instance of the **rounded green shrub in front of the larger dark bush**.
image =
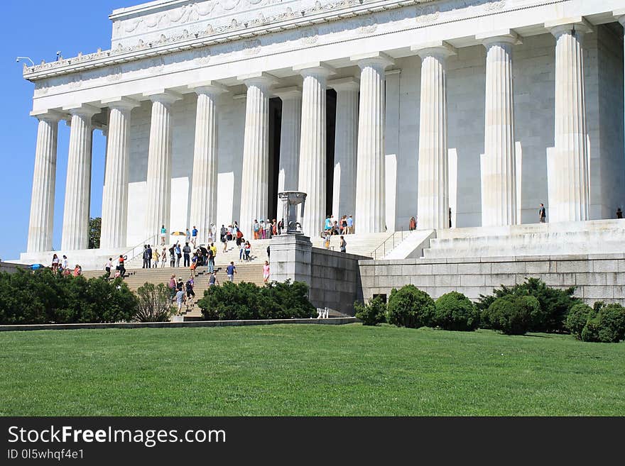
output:
[[534, 296], [509, 294], [495, 299], [482, 318], [501, 333], [524, 335], [536, 325], [540, 315], [540, 304]]

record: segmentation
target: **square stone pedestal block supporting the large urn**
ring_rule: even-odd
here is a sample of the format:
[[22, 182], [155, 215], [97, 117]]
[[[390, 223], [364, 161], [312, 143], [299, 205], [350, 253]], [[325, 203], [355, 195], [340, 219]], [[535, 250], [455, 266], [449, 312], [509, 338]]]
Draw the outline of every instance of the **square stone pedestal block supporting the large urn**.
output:
[[312, 243], [305, 235], [271, 237], [271, 280], [306, 282], [310, 286]]

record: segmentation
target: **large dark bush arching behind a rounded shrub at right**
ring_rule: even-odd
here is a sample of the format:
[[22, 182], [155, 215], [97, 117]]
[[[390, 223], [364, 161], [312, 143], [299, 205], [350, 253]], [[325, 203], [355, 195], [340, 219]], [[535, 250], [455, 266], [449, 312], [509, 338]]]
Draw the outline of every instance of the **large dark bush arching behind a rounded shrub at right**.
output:
[[[508, 295], [530, 295], [538, 299], [541, 316], [536, 318], [530, 331], [561, 333], [567, 330], [567, 315], [575, 304], [579, 304], [580, 299], [573, 297], [575, 287], [567, 289], [557, 289], [548, 287], [545, 282], [538, 278], [528, 278], [522, 284], [513, 287], [504, 285], [499, 289], [493, 289], [493, 294], [484, 296], [481, 294], [477, 301], [477, 309], [483, 314], [497, 298]], [[482, 328], [488, 328], [489, 323], [481, 324]]]

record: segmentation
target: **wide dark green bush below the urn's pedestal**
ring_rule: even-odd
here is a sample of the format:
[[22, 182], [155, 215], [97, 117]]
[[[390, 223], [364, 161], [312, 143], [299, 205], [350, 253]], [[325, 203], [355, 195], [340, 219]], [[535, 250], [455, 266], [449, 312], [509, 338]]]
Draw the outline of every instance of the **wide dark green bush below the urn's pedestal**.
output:
[[225, 282], [209, 287], [197, 301], [205, 319], [229, 321], [265, 318], [309, 318], [316, 315], [308, 301], [308, 285], [287, 280], [264, 287], [254, 283]]

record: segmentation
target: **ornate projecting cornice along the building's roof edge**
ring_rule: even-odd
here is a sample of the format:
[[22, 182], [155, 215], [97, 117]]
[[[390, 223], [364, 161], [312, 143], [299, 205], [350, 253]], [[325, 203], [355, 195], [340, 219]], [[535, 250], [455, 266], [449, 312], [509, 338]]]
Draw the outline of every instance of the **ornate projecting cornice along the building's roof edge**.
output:
[[[239, 23], [233, 18], [230, 23], [216, 28], [209, 26], [201, 33], [190, 34], [184, 30], [180, 35], [170, 37], [161, 35], [160, 40], [153, 40], [148, 43], [139, 40], [136, 45], [130, 47], [119, 45], [118, 48], [112, 50], [98, 49], [97, 52], [87, 55], [79, 53], [76, 57], [63, 58], [56, 62], [41, 62], [40, 65], [30, 67], [24, 65], [23, 77], [34, 82], [38, 79], [62, 74], [107, 67], [146, 57], [168, 55], [181, 50], [192, 50], [234, 40], [249, 39], [258, 35], [304, 28], [319, 23], [339, 21], [352, 16], [362, 16], [413, 4], [430, 3], [431, 1], [434, 0], [330, 0], [326, 4], [317, 1], [315, 6], [302, 11], [293, 11], [287, 8], [286, 11], [275, 16], [259, 17], [243, 23]], [[364, 26], [362, 33], [367, 33], [371, 28], [375, 30], [374, 26], [375, 23]], [[315, 39], [316, 35], [305, 38], [305, 40]], [[250, 40], [249, 42], [252, 43], [253, 41]], [[250, 50], [254, 51], [254, 47], [251, 47]]]

